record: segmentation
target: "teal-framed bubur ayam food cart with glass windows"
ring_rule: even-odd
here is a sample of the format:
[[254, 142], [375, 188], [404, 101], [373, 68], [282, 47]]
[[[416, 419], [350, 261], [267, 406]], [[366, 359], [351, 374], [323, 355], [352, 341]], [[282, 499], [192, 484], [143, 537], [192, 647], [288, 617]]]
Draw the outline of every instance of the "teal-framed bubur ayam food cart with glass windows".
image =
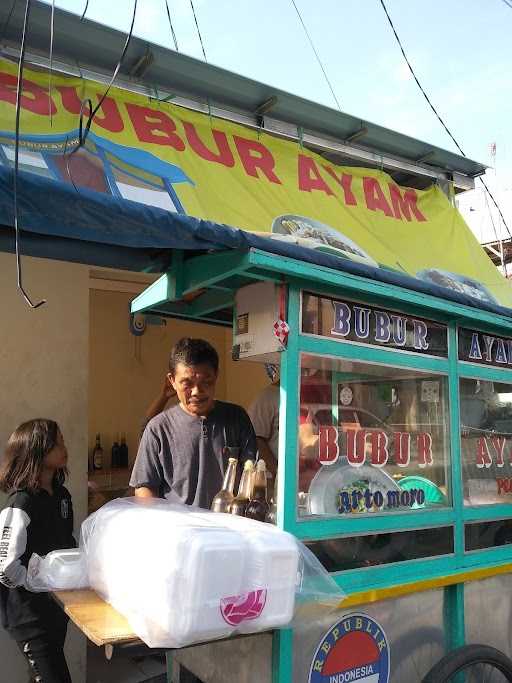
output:
[[[178, 657], [206, 681], [410, 683], [465, 644], [510, 654], [512, 321], [460, 293], [314, 258], [177, 253], [133, 302], [226, 325], [234, 305], [234, 357], [252, 348], [253, 360], [280, 362], [277, 524], [348, 594], [325, 619], [277, 631], [271, 645], [262, 636], [272, 675], [237, 641]], [[287, 326], [280, 351], [272, 318]]]

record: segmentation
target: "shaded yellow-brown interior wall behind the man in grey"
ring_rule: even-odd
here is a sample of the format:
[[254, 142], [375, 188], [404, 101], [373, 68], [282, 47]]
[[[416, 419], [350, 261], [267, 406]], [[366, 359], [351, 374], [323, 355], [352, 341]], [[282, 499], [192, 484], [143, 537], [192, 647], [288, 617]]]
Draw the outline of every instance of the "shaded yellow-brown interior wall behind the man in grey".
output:
[[231, 331], [225, 328], [168, 319], [166, 325], [148, 325], [141, 337], [128, 328], [133, 294], [91, 290], [89, 449], [101, 435], [106, 466], [114, 438], [125, 432], [133, 462], [141, 420], [158, 394], [167, 372], [169, 351], [183, 336], [207, 339], [220, 357], [217, 397], [245, 407], [267, 383], [258, 363], [231, 360]]

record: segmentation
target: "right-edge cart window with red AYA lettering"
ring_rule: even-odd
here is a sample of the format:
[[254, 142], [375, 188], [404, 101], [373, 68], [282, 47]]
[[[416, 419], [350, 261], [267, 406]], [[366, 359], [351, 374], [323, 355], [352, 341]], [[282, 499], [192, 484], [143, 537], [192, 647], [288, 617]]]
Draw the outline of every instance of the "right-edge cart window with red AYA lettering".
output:
[[464, 502], [512, 502], [512, 384], [460, 380]]

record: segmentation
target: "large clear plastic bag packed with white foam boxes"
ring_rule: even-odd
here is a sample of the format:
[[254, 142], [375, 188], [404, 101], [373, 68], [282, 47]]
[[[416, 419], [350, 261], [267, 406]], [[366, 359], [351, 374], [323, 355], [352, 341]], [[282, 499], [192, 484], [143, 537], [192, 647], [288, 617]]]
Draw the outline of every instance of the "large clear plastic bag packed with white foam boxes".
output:
[[296, 603], [343, 597], [305, 546], [270, 524], [160, 499], [123, 498], [82, 524], [89, 582], [150, 647], [289, 625]]

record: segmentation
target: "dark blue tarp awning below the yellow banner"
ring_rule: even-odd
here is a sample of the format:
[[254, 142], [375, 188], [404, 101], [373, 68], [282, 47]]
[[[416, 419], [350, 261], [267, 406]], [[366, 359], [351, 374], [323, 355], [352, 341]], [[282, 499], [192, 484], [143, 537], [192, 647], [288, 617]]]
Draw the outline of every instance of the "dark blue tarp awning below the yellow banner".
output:
[[[13, 171], [0, 166], [0, 249], [13, 251]], [[170, 250], [204, 252], [222, 249], [262, 251], [422, 292], [512, 317], [512, 309], [394, 271], [374, 268], [261, 237], [227, 225], [176, 214], [145, 204], [20, 172], [19, 223], [23, 252], [90, 265], [162, 270]]]

